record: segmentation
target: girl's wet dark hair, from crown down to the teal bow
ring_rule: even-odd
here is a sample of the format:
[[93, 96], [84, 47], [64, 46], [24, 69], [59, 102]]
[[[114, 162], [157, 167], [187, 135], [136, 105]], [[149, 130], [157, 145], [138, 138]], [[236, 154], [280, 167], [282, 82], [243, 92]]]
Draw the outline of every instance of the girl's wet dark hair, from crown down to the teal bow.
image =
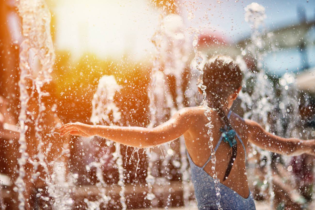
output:
[[231, 127], [223, 110], [228, 97], [242, 86], [243, 75], [235, 61], [225, 55], [215, 55], [203, 68], [203, 85], [205, 85], [209, 103], [217, 109], [218, 114]]

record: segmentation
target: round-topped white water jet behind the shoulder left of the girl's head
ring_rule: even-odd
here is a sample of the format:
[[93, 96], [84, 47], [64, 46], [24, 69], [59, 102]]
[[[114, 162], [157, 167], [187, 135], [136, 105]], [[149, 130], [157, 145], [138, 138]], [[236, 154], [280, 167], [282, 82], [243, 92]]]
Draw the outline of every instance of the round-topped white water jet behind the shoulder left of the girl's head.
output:
[[[183, 71], [186, 68], [188, 61], [187, 39], [184, 34], [184, 23], [182, 17], [178, 14], [168, 14], [162, 20], [161, 25], [161, 49], [159, 51], [160, 59], [163, 60], [163, 72], [165, 76], [175, 76], [175, 100], [173, 99], [168, 107], [171, 108], [171, 115], [175, 114], [176, 110], [184, 107], [184, 92], [183, 92]], [[164, 76], [164, 77], [165, 77]], [[165, 83], [165, 82], [164, 82]], [[156, 85], [156, 84], [155, 84]], [[164, 92], [170, 97], [169, 89]], [[186, 155], [185, 139], [183, 136], [179, 138], [180, 147], [180, 172], [182, 174], [181, 181], [183, 186], [183, 201], [187, 206], [189, 200], [189, 170], [187, 170], [188, 161]], [[167, 144], [165, 145], [168, 146]], [[168, 146], [169, 147], [169, 146]], [[169, 148], [166, 148], [167, 150]], [[169, 158], [165, 158], [163, 163], [169, 163]], [[164, 163], [164, 164], [165, 164]]]

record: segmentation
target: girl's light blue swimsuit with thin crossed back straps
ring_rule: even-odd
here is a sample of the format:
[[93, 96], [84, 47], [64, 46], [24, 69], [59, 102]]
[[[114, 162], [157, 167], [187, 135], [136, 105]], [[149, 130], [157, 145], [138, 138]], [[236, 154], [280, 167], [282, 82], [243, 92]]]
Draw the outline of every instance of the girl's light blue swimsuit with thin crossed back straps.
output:
[[[230, 118], [231, 111], [228, 114], [228, 118]], [[241, 142], [243, 149], [245, 151], [246, 158], [246, 149], [243, 141], [236, 134], [238, 140]], [[215, 146], [215, 151], [218, 149], [223, 135]], [[187, 156], [189, 159], [190, 167], [191, 167], [191, 179], [195, 189], [195, 197], [198, 203], [198, 209], [210, 210], [210, 209], [218, 209], [216, 205], [217, 196], [215, 193], [215, 186], [213, 178], [207, 174], [203, 168], [209, 163], [211, 155], [208, 161], [203, 165], [203, 167], [198, 167], [195, 163], [192, 162], [192, 159], [187, 152]], [[246, 159], [245, 159], [246, 160]], [[221, 200], [220, 204], [222, 209], [224, 210], [255, 210], [255, 203], [253, 199], [253, 195], [249, 191], [248, 198], [243, 198], [237, 192], [233, 191], [231, 188], [219, 183], [220, 191], [221, 191]]]

